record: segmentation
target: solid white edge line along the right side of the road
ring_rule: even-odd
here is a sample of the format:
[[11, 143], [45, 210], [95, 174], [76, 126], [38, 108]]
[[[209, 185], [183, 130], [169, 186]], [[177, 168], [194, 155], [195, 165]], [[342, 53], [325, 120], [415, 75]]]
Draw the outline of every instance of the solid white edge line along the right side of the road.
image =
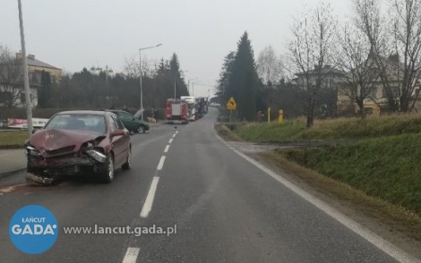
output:
[[[215, 132], [215, 135], [225, 145], [228, 145], [228, 143], [222, 140], [222, 138], [220, 138], [216, 132]], [[276, 174], [271, 169], [265, 167], [264, 165], [261, 165], [259, 162], [255, 161], [253, 158], [246, 156], [245, 154], [243, 154], [242, 152], [236, 149], [234, 149], [234, 152], [240, 157], [245, 158], [245, 160], [251, 163], [252, 165], [261, 169], [264, 173], [270, 175], [276, 181], [285, 185], [289, 190], [294, 191], [297, 195], [305, 199], [307, 202], [313, 204], [314, 207], [319, 208], [327, 215], [336, 219], [340, 224], [345, 225], [346, 227], [348, 227], [348, 229], [350, 229], [354, 233], [357, 233], [358, 235], [363, 237], [366, 241], [374, 244], [374, 246], [376, 246], [377, 248], [379, 248], [380, 250], [382, 250], [383, 252], [391, 256], [392, 258], [397, 259], [400, 262], [408, 262], [408, 263], [421, 262], [418, 259], [415, 259], [413, 256], [411, 256], [407, 252], [405, 252], [404, 250], [400, 250], [391, 242], [384, 240], [381, 236], [365, 228], [363, 225], [359, 225], [356, 221], [341, 214], [339, 211], [335, 210], [334, 208], [331, 208], [331, 206], [324, 203], [322, 200], [316, 199], [313, 195], [297, 187], [295, 184], [293, 184], [292, 182], [289, 182], [287, 179], [283, 178], [281, 175]]]

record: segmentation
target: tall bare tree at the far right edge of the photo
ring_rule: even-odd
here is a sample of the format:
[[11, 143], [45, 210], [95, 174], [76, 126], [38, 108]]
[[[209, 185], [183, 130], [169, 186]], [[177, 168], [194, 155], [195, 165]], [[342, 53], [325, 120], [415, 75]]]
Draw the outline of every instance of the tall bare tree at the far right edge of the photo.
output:
[[[421, 2], [393, 0], [393, 36], [396, 55], [400, 59], [400, 110], [412, 110], [410, 105], [421, 70]], [[403, 60], [403, 61], [401, 61]], [[417, 94], [418, 95], [418, 94]]]

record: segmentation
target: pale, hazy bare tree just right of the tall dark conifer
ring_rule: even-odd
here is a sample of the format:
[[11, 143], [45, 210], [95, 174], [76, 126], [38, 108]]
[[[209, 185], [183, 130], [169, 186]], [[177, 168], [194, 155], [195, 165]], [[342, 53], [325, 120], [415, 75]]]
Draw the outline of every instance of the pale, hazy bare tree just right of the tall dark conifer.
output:
[[257, 59], [257, 73], [264, 84], [278, 84], [282, 78], [283, 65], [273, 47], [265, 47]]

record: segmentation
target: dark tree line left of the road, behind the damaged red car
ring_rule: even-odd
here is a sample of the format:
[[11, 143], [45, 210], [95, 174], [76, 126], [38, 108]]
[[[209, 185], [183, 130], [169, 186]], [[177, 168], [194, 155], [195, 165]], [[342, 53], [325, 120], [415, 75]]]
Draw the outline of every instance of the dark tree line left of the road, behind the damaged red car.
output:
[[[19, 92], [10, 92], [21, 87], [21, 64], [16, 63], [13, 53], [6, 47], [0, 48], [0, 91], [2, 104], [16, 106]], [[31, 87], [38, 88], [39, 108], [107, 108], [115, 106], [140, 108], [140, 64], [134, 60], [125, 61], [125, 70], [110, 75], [106, 70], [93, 72], [86, 67], [81, 72], [64, 73], [61, 81], [51, 81], [48, 72], [41, 72], [40, 81], [30, 80]], [[163, 108], [168, 98], [188, 96], [178, 56], [163, 58], [158, 64], [142, 61], [143, 107]], [[17, 90], [17, 89], [15, 89]]]

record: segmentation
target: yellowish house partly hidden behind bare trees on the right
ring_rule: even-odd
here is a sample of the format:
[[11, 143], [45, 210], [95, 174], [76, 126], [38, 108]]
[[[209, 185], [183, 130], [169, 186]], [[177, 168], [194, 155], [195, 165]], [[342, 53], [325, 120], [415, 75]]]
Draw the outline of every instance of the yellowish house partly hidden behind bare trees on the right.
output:
[[[370, 55], [367, 58], [372, 59]], [[389, 85], [391, 86], [391, 92], [393, 98], [397, 101], [400, 99], [400, 80], [403, 77], [403, 64], [399, 62], [398, 55], [390, 55], [387, 58], [382, 58], [383, 62], [387, 66]], [[373, 67], [368, 67], [367, 70], [373, 70], [373, 80], [367, 81], [366, 86], [369, 87], [369, 93], [364, 99], [364, 109], [366, 115], [381, 115], [382, 112], [387, 111], [388, 109], [388, 96], [386, 89], [384, 89], [380, 75], [376, 72], [376, 66], [373, 64]], [[355, 96], [355, 91], [357, 94], [360, 92], [360, 85], [357, 85], [357, 89], [354, 89], [354, 92], [351, 87], [351, 83], [347, 81], [342, 81], [339, 83], [338, 90], [338, 115], [358, 115], [360, 108], [357, 106]], [[420, 81], [414, 83], [420, 87]], [[418, 88], [419, 89], [419, 88]], [[417, 89], [416, 89], [417, 90]], [[417, 94], [417, 95], [416, 95]], [[415, 104], [416, 109], [421, 109], [421, 98], [417, 98], [418, 92], [413, 96], [413, 103]], [[412, 102], [411, 102], [412, 103]]]

